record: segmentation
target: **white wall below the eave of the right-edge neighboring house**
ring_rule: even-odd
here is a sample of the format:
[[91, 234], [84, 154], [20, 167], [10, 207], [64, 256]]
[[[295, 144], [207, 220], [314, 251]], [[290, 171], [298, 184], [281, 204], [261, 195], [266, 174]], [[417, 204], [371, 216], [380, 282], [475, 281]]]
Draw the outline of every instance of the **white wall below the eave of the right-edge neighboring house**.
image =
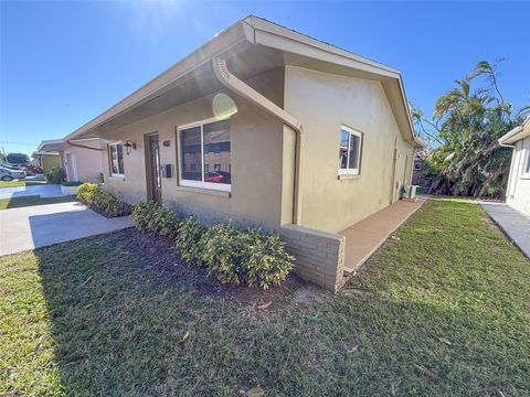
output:
[[530, 137], [517, 141], [515, 146], [506, 203], [530, 215], [530, 175], [523, 173], [526, 161], [530, 161], [528, 160], [528, 157], [530, 157]]

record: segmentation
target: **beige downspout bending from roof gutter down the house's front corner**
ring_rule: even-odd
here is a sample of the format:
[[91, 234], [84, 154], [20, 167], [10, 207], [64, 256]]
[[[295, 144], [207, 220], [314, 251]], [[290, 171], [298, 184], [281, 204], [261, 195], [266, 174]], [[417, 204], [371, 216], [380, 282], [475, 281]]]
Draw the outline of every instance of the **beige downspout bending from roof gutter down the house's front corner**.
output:
[[237, 95], [244, 97], [245, 99], [257, 105], [263, 110], [273, 115], [283, 121], [284, 125], [288, 126], [295, 131], [296, 135], [296, 148], [295, 148], [295, 186], [293, 194], [293, 223], [295, 225], [300, 224], [301, 216], [301, 152], [304, 143], [304, 130], [301, 122], [298, 121], [295, 117], [289, 115], [287, 111], [282, 109], [279, 106], [264, 97], [262, 94], [256, 92], [254, 88], [245, 84], [243, 81], [230, 73], [226, 67], [226, 61], [219, 57], [212, 58], [212, 66], [215, 77], [219, 82], [225, 87], [236, 93]]

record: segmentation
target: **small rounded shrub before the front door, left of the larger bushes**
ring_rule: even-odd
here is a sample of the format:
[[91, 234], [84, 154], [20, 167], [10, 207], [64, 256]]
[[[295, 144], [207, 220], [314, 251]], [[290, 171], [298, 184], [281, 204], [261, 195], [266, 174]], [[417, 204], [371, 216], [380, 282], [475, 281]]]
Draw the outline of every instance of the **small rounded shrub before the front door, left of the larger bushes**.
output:
[[138, 229], [160, 236], [174, 238], [179, 229], [179, 222], [173, 212], [153, 201], [144, 201], [135, 205], [132, 218]]

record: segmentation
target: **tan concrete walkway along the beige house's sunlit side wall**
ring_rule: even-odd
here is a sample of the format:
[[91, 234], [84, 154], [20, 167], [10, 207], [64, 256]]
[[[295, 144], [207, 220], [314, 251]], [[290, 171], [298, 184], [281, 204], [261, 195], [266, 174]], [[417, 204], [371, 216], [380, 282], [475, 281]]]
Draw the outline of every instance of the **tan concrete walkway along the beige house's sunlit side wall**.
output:
[[346, 236], [344, 272], [352, 273], [398, 229], [425, 200], [399, 201], [339, 234]]

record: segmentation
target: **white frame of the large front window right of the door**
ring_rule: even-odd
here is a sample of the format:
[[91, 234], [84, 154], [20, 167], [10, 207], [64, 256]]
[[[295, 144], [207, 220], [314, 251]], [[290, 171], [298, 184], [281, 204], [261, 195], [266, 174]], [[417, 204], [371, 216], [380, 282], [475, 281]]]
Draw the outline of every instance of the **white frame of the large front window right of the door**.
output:
[[[226, 118], [216, 118], [216, 117], [211, 117], [204, 120], [200, 121], [194, 121], [190, 122], [183, 126], [177, 127], [177, 157], [179, 159], [179, 186], [187, 186], [187, 187], [199, 187], [199, 189], [208, 189], [208, 190], [216, 190], [216, 191], [222, 191], [222, 192], [231, 192], [232, 191], [232, 183], [212, 183], [212, 182], [204, 182], [204, 125], [215, 122], [215, 121], [224, 121], [224, 120], [230, 120], [230, 117]], [[183, 167], [183, 160], [182, 159], [182, 151], [181, 151], [181, 139], [180, 139], [180, 132], [182, 130], [193, 128], [193, 127], [201, 127], [201, 169], [202, 169], [202, 181], [192, 181], [192, 180], [186, 180], [182, 176], [182, 171], [184, 169]], [[230, 158], [232, 162], [232, 135], [230, 136]], [[231, 167], [232, 168], [232, 167]], [[231, 172], [232, 173], [232, 172]]]

